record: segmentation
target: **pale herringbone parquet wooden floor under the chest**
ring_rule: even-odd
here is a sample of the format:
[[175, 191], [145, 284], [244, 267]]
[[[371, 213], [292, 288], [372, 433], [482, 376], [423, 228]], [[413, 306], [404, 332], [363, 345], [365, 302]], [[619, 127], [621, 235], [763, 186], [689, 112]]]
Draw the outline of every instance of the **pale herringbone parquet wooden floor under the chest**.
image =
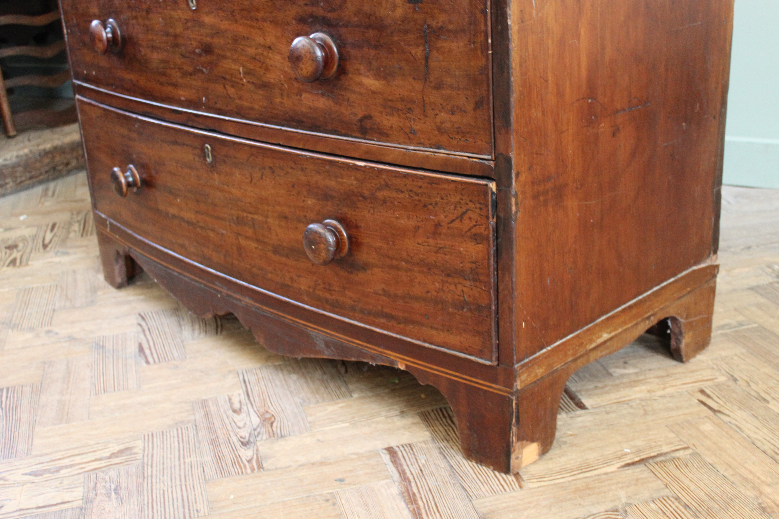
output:
[[0, 198], [0, 518], [779, 519], [779, 191], [724, 188], [710, 348], [578, 371], [516, 478], [403, 371], [111, 289], [89, 206], [83, 174]]

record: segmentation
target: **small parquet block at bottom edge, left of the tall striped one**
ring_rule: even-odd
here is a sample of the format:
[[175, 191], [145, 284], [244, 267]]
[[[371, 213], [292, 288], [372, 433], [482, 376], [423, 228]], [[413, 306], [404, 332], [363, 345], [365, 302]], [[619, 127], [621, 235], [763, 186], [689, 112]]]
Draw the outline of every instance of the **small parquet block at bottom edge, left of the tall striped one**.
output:
[[143, 519], [141, 495], [143, 467], [122, 465], [84, 478], [84, 519]]

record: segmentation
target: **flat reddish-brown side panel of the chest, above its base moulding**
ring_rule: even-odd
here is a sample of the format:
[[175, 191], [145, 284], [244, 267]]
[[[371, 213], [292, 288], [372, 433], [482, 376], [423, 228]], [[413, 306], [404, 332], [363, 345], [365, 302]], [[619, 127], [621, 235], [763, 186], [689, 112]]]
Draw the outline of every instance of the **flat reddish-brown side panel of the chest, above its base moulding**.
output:
[[732, 5], [510, 3], [518, 360], [716, 252]]

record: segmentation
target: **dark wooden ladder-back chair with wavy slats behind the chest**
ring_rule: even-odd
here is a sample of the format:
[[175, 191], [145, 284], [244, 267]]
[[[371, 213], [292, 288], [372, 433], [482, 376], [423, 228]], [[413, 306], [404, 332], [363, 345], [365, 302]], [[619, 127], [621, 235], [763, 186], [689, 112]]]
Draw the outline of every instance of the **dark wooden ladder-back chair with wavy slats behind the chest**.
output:
[[[48, 12], [41, 16], [5, 15], [0, 16], [0, 26], [16, 24], [40, 27], [58, 19], [60, 19], [58, 11]], [[55, 41], [48, 45], [17, 45], [16, 47], [0, 48], [0, 58], [8, 58], [9, 56], [51, 58], [63, 50], [65, 50], [65, 40]], [[56, 88], [68, 81], [68, 79], [70, 79], [69, 70], [64, 70], [52, 75], [21, 75], [8, 80], [2, 79], [2, 74], [0, 74], [0, 114], [2, 114], [2, 121], [5, 126], [5, 135], [8, 135], [9, 137], [16, 135], [16, 124], [14, 122], [13, 114], [11, 113], [11, 105], [8, 100], [8, 93], [6, 92], [7, 89], [16, 86]], [[65, 124], [76, 121], [75, 110], [73, 111], [73, 114], [69, 114], [69, 110], [65, 110], [64, 112], [57, 112], [55, 110], [32, 110], [23, 114], [17, 114], [17, 122], [20, 122], [19, 117], [21, 117], [27, 124]]]

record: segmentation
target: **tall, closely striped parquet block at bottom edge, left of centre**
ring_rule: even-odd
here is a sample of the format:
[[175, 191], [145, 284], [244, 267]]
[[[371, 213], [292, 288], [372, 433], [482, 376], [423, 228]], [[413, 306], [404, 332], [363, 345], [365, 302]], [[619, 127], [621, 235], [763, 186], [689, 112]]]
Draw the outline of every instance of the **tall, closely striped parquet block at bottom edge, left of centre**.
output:
[[195, 426], [143, 436], [143, 513], [182, 519], [209, 513]]

